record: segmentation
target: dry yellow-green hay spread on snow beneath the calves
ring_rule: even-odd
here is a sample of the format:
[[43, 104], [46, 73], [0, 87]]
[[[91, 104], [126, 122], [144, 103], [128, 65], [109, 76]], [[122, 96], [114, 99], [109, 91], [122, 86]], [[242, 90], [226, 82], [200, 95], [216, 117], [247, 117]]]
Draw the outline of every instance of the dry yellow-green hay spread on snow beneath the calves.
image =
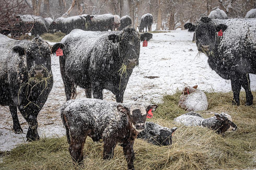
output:
[[[238, 126], [234, 133], [225, 136], [201, 127], [178, 127], [173, 145], [155, 146], [142, 140], [134, 144], [135, 168], [139, 170], [170, 169], [245, 169], [256, 168], [256, 104], [244, 106], [245, 93], [241, 93], [241, 106], [231, 105], [232, 92], [206, 93], [209, 111], [201, 112], [211, 117], [211, 111], [228, 111]], [[256, 96], [256, 92], [253, 92]], [[178, 108], [180, 92], [167, 95], [164, 103], [150, 121], [166, 127], [174, 127], [173, 118], [184, 114]], [[126, 169], [127, 164], [120, 146], [117, 146], [112, 160], [102, 160], [102, 143], [95, 144], [88, 137], [84, 147], [84, 166], [78, 169]], [[38, 142], [22, 144], [4, 153], [0, 169], [74, 169], [68, 152], [66, 137], [46, 138]]]

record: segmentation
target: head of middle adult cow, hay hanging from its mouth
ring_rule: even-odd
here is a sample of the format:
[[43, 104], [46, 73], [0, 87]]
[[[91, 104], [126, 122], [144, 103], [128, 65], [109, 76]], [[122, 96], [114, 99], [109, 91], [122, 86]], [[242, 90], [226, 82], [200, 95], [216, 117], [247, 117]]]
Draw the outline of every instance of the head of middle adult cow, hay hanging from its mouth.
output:
[[118, 55], [123, 64], [128, 67], [135, 67], [139, 64], [140, 42], [150, 40], [152, 34], [138, 33], [133, 27], [126, 27], [116, 34], [110, 34], [108, 39], [113, 43], [118, 43]]

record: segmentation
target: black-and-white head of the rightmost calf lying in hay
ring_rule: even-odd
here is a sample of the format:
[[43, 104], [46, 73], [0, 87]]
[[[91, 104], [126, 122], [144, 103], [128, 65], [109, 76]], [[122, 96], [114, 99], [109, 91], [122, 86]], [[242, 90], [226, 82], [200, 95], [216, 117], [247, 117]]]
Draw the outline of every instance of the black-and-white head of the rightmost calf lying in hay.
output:
[[234, 132], [237, 129], [237, 126], [235, 123], [233, 123], [232, 118], [229, 114], [221, 113], [217, 114], [215, 113], [215, 116], [217, 118], [217, 121], [215, 122], [215, 129], [217, 130], [217, 133], [223, 134], [226, 132]]

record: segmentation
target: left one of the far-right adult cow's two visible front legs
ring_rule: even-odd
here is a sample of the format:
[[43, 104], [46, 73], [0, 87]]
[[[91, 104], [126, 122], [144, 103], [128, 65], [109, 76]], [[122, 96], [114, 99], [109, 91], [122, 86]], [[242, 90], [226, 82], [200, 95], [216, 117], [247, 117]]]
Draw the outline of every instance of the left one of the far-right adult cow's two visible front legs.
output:
[[231, 81], [231, 88], [233, 91], [233, 101], [232, 101], [233, 105], [240, 105], [239, 95], [240, 95], [240, 90], [242, 86], [241, 84], [242, 78], [243, 77], [241, 73], [238, 73], [236, 71], [231, 71], [230, 81]]

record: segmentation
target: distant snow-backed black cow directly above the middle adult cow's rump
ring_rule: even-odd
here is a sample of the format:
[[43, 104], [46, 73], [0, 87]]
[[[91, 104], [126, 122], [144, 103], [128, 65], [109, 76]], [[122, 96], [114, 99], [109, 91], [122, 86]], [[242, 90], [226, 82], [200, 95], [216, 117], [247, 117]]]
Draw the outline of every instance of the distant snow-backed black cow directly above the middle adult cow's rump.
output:
[[83, 14], [67, 18], [59, 17], [49, 26], [49, 30], [60, 30], [62, 33], [69, 34], [73, 29], [87, 30], [93, 16]]

